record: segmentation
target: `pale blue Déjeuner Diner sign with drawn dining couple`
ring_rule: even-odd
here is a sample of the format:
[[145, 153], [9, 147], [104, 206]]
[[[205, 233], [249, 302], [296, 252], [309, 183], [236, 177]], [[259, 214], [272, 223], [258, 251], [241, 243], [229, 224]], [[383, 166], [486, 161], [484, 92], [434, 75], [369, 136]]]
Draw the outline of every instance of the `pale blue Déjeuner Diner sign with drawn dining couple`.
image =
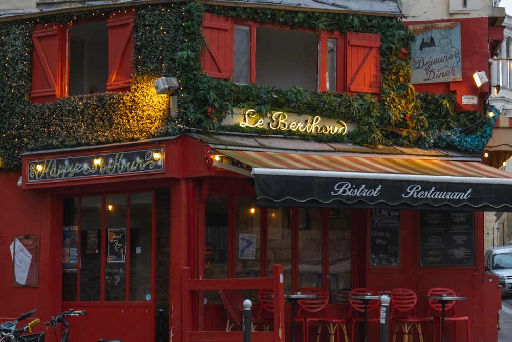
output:
[[462, 79], [459, 22], [415, 24], [409, 29], [416, 36], [411, 47], [411, 83]]

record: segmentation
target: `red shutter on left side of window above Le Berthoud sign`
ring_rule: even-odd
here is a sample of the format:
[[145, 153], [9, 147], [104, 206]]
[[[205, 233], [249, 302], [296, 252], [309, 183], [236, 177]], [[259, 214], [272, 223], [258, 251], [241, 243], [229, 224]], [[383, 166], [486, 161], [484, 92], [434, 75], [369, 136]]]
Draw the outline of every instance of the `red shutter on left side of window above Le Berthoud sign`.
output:
[[233, 74], [234, 24], [230, 18], [205, 13], [203, 34], [206, 47], [201, 55], [203, 71], [217, 78]]

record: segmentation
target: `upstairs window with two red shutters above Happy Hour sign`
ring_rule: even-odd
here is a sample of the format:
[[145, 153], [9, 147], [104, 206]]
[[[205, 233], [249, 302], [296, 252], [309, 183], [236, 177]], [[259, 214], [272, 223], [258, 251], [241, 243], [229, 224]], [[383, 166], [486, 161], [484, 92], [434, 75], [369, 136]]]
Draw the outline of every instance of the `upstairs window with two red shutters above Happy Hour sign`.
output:
[[132, 29], [133, 13], [106, 21], [34, 25], [32, 102], [129, 89]]

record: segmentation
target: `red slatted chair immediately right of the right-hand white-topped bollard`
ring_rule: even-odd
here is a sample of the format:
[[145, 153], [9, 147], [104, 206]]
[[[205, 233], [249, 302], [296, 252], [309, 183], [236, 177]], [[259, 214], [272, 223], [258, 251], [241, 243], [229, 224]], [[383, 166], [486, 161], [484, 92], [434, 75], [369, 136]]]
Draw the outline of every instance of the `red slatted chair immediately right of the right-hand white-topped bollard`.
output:
[[394, 324], [393, 342], [395, 342], [396, 334], [401, 328], [403, 333], [403, 342], [408, 340], [412, 342], [414, 329], [418, 331], [419, 340], [423, 342], [423, 332], [421, 324], [432, 324], [432, 338], [435, 341], [434, 317], [418, 317], [416, 304], [418, 296], [411, 289], [395, 288], [391, 290], [391, 313], [390, 323]]

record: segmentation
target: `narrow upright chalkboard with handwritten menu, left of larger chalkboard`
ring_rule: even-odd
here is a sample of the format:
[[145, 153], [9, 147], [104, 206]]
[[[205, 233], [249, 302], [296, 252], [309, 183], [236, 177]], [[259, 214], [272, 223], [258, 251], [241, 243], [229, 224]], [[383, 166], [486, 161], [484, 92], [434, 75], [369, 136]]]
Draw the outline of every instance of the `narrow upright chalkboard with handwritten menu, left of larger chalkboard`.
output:
[[400, 263], [400, 211], [371, 209], [370, 265], [398, 266]]

